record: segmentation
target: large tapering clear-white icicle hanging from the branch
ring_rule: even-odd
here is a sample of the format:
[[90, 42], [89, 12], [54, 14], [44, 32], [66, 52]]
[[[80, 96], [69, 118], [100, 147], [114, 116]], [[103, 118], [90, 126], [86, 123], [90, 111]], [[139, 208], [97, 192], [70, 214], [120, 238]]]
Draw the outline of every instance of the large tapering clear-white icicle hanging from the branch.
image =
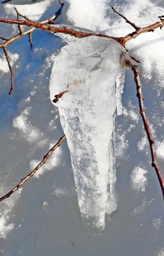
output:
[[[112, 39], [79, 39], [61, 49], [50, 81], [52, 102], [56, 94], [66, 92], [53, 104], [58, 106], [71, 153], [81, 215], [98, 229], [105, 227], [106, 212], [116, 209], [115, 82], [124, 70], [120, 64], [124, 54], [125, 49]], [[120, 105], [118, 109], [121, 114]]]

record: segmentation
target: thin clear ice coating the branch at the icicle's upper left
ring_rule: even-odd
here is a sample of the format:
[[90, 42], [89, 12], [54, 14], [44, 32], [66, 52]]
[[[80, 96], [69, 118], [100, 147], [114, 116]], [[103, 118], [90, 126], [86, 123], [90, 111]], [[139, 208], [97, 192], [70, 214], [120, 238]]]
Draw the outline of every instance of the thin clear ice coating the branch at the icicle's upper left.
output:
[[[69, 26], [69, 25], [62, 25], [62, 24], [58, 25], [57, 24], [57, 25], [52, 25], [52, 27], [58, 28], [58, 29], [67, 28], [67, 29], [74, 30], [77, 32], [93, 33], [93, 31], [91, 31], [89, 29], [84, 29], [84, 28], [79, 28], [79, 27]], [[64, 33], [55, 33], [55, 35], [59, 36], [63, 41], [67, 42], [68, 44], [69, 44], [69, 42], [77, 41], [79, 39], [76, 36], [64, 34]]]

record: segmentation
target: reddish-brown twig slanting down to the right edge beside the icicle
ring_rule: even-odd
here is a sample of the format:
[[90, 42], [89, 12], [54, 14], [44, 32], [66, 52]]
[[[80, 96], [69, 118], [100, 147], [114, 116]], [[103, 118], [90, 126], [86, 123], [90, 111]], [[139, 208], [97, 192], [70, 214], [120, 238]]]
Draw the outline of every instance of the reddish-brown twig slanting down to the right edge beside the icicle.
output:
[[139, 101], [139, 113], [142, 116], [143, 123], [144, 123], [144, 128], [145, 128], [145, 131], [147, 133], [148, 140], [149, 140], [151, 158], [152, 158], [152, 167], [155, 168], [155, 171], [156, 171], [159, 183], [160, 183], [160, 187], [161, 187], [161, 190], [162, 190], [163, 199], [164, 199], [164, 182], [163, 182], [162, 175], [160, 173], [159, 166], [157, 164], [155, 146], [154, 146], [155, 142], [154, 142], [153, 137], [151, 135], [149, 123], [148, 123], [146, 113], [145, 113], [145, 109], [144, 109], [144, 97], [143, 97], [143, 94], [142, 94], [142, 84], [140, 83], [140, 79], [139, 79], [140, 74], [138, 72], [138, 67], [133, 65], [131, 63], [131, 61], [125, 61], [125, 66], [130, 68], [134, 73], [134, 81], [135, 81], [135, 84], [136, 84], [137, 97], [138, 97], [138, 101]]

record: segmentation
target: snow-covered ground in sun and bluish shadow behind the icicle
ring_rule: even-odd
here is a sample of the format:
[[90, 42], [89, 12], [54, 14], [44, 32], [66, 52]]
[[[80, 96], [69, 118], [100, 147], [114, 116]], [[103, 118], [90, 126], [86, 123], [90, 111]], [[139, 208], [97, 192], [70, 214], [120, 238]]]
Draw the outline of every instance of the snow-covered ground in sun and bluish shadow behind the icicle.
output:
[[[112, 13], [110, 6], [138, 26], [146, 26], [163, 14], [163, 1], [153, 3], [69, 0], [57, 22], [125, 35], [132, 28]], [[35, 20], [49, 17], [58, 8], [57, 1], [52, 0], [17, 6]], [[14, 18], [13, 5], [1, 5], [0, 14]], [[1, 28], [0, 36], [8, 37], [15, 34], [17, 26]], [[142, 61], [139, 70], [145, 106], [164, 176], [163, 36], [163, 31], [157, 30], [132, 40], [127, 47]], [[53, 34], [36, 31], [33, 44], [30, 51], [28, 38], [22, 38], [8, 47], [15, 72], [12, 96], [8, 95], [10, 74], [1, 51], [1, 195], [25, 177], [63, 134], [58, 110], [50, 101], [49, 82], [54, 59], [65, 43]], [[35, 178], [0, 204], [2, 255], [163, 255], [163, 200], [129, 70], [122, 101], [123, 115], [116, 117], [118, 208], [106, 220], [104, 232], [99, 234], [82, 224], [71, 158], [64, 142]]]

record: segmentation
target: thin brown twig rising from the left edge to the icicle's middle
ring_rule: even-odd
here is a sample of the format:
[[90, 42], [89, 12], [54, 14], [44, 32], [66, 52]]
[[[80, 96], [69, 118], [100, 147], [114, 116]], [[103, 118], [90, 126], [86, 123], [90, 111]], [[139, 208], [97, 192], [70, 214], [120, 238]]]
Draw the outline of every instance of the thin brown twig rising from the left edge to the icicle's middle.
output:
[[46, 160], [51, 156], [51, 154], [56, 150], [57, 147], [61, 145], [61, 143], [64, 141], [65, 135], [63, 135], [59, 141], [51, 148], [51, 150], [43, 157], [43, 160], [35, 167], [35, 169], [28, 174], [24, 179], [22, 179], [13, 189], [11, 189], [5, 196], [0, 198], [0, 202], [4, 199], [10, 197], [18, 188], [20, 188], [29, 178], [34, 176], [34, 174], [37, 172], [37, 170], [45, 164]]

